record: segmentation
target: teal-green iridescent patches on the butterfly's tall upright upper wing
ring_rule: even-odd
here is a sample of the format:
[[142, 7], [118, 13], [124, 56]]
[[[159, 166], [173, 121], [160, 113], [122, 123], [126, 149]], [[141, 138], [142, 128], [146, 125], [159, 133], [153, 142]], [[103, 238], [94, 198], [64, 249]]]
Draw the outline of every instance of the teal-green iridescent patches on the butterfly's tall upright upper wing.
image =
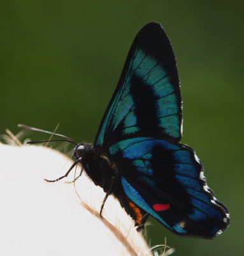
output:
[[[131, 61], [126, 79], [120, 90], [117, 92], [116, 98], [103, 121], [103, 126], [99, 137], [97, 137], [96, 145], [103, 145], [104, 134], [108, 131], [115, 132], [118, 124], [123, 123], [123, 135], [140, 132], [141, 128], [136, 124], [137, 117], [134, 113], [134, 100], [131, 95], [131, 78], [135, 75], [148, 84], [152, 88], [157, 104], [157, 117], [160, 120], [160, 127], [164, 133], [172, 137], [180, 136], [180, 117], [178, 96], [174, 93], [175, 87], [169, 81], [166, 70], [158, 63], [157, 59], [150, 54], [145, 54], [142, 49], [138, 49], [134, 53], [133, 61]], [[146, 95], [144, 95], [146, 96]], [[145, 106], [145, 108], [150, 106]], [[141, 107], [143, 111], [143, 106]], [[114, 113], [116, 115], [113, 117]]]

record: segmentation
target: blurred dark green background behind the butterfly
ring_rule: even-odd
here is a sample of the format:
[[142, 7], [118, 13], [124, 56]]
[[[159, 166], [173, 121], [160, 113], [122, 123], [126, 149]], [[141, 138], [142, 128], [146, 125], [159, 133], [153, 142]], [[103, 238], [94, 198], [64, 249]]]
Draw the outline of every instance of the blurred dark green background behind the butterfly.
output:
[[[2, 1], [0, 133], [18, 123], [92, 142], [127, 52], [158, 21], [173, 43], [182, 83], [182, 142], [205, 163], [208, 185], [231, 212], [211, 241], [151, 220], [150, 244], [173, 255], [240, 255], [243, 207], [243, 1]], [[32, 139], [48, 136], [31, 133]]]

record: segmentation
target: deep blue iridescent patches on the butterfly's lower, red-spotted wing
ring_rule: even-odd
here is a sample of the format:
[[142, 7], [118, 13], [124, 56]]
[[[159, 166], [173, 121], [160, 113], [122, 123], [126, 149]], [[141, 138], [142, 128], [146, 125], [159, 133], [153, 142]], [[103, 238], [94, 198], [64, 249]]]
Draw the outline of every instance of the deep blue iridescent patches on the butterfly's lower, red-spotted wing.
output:
[[[167, 142], [166, 140], [156, 140], [154, 138], [149, 137], [138, 137], [134, 139], [127, 139], [110, 146], [109, 152], [111, 155], [115, 155], [118, 151], [121, 151], [123, 157], [131, 160], [136, 171], [140, 172], [138, 179], [144, 181], [151, 186], [155, 186], [155, 188], [159, 188], [160, 190], [164, 190], [161, 187], [161, 184], [155, 182], [161, 178], [159, 174], [164, 172], [164, 160], [162, 160], [162, 170], [159, 170], [160, 173], [157, 173], [152, 167], [152, 162], [155, 161], [153, 159], [153, 154], [151, 152], [154, 151], [154, 148], [160, 146], [161, 150], [167, 150], [171, 152], [173, 156], [174, 165], [173, 171], [175, 172], [175, 177], [179, 183], [182, 183], [185, 190], [189, 193], [190, 200], [192, 200], [192, 213], [189, 214], [188, 218], [192, 218], [192, 220], [206, 220], [209, 216], [215, 216], [216, 222], [220, 219], [222, 214], [219, 213], [218, 209], [212, 207], [212, 202], [210, 201], [210, 197], [204, 193], [203, 190], [203, 181], [199, 179], [199, 166], [197, 165], [196, 156], [187, 149], [187, 147], [177, 146]], [[146, 176], [144, 175], [146, 174]], [[143, 194], [138, 197], [138, 192], [133, 185], [130, 185], [126, 178], [122, 178], [122, 184], [125, 190], [129, 193], [130, 197], [134, 199], [134, 202], [140, 204], [140, 207], [145, 211], [148, 211], [150, 215], [157, 218], [157, 220], [161, 221], [168, 227], [168, 224], [159, 216], [158, 213], [153, 211], [152, 207], [148, 206], [148, 204], [143, 199]], [[172, 189], [174, 186], [172, 186]], [[147, 193], [150, 193], [147, 191]], [[135, 195], [137, 195], [135, 197]], [[145, 196], [144, 196], [145, 197]], [[155, 196], [156, 197], [156, 196]], [[173, 227], [168, 227], [171, 230], [175, 230], [175, 232], [182, 232], [185, 234], [186, 230], [183, 228], [180, 229], [178, 223], [173, 225]], [[215, 234], [218, 230], [215, 230], [213, 227], [212, 232]]]

